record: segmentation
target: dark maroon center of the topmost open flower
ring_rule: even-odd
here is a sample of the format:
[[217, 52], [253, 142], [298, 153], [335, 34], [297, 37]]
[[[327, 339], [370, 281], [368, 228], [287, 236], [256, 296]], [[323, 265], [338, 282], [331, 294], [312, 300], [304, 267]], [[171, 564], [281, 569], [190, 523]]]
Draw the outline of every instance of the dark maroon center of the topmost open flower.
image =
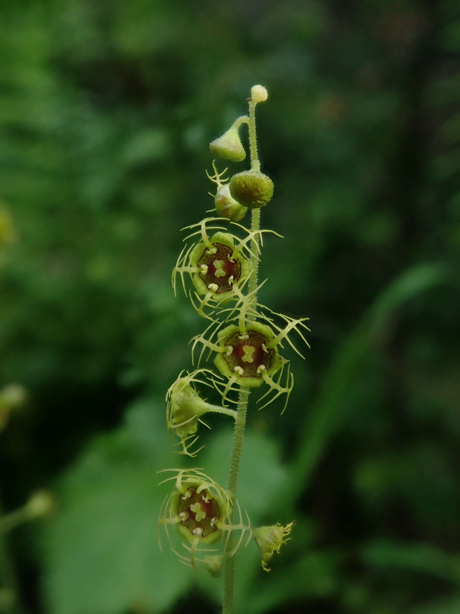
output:
[[210, 284], [217, 286], [216, 294], [229, 292], [232, 289], [232, 283], [238, 281], [241, 276], [241, 263], [238, 258], [235, 258], [234, 262], [230, 260], [233, 253], [231, 247], [221, 243], [212, 243], [212, 247], [217, 250], [216, 253], [209, 254], [209, 249], [205, 247], [197, 262], [198, 266], [207, 266], [206, 273], [198, 274], [206, 287], [209, 287]]

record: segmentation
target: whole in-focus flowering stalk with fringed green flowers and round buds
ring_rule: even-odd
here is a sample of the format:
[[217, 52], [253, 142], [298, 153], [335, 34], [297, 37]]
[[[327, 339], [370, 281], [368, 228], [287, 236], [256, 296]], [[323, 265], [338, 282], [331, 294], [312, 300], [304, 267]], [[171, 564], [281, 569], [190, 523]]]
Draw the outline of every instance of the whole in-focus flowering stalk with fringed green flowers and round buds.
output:
[[[273, 233], [260, 228], [261, 208], [269, 203], [274, 191], [270, 177], [261, 173], [256, 140], [255, 109], [266, 99], [267, 90], [263, 86], [251, 88], [249, 115], [239, 117], [229, 130], [210, 144], [215, 155], [242, 161], [246, 152], [239, 129], [246, 124], [250, 169], [226, 179], [227, 169], [219, 172], [213, 161], [213, 174], [207, 173], [207, 176], [217, 186], [211, 196], [218, 217], [205, 217], [183, 229], [191, 230], [184, 241], [192, 243], [183, 248], [172, 273], [174, 292], [180, 279], [197, 313], [210, 324], [191, 340], [194, 370], [182, 371], [167, 392], [167, 426], [180, 438], [179, 454], [195, 457], [201, 450], [194, 448], [199, 437], [196, 433], [199, 424], [207, 426], [203, 421], [206, 413], [220, 413], [234, 419], [235, 425], [227, 488], [223, 489], [199, 468], [166, 470], [174, 474], [162, 483], [174, 481], [175, 488], [164, 500], [159, 522], [171, 542], [175, 535], [188, 552], [186, 556], [183, 550], [178, 552], [174, 545], [171, 546], [180, 562], [204, 567], [215, 577], [223, 567], [223, 614], [232, 613], [234, 554], [243, 537], [247, 535], [247, 544], [251, 535], [255, 535], [262, 567], [268, 571], [267, 562], [288, 541], [286, 536], [293, 524], [282, 526], [278, 523], [253, 530], [246, 511], [243, 521], [236, 500], [250, 391], [260, 387], [266, 389], [257, 400], [257, 403], [265, 400], [259, 409], [284, 396], [282, 413], [285, 411], [294, 376], [279, 348], [282, 349], [283, 342], [287, 341], [300, 354], [291, 340], [291, 333], [295, 331], [307, 344], [302, 328], [309, 330], [304, 323], [307, 318], [293, 319], [277, 314], [258, 302], [258, 290], [263, 285], [258, 284], [263, 234]], [[248, 209], [251, 209], [250, 229], [239, 223]], [[186, 284], [187, 277], [193, 289]], [[277, 324], [279, 321], [281, 325]], [[201, 366], [211, 356], [218, 374]], [[201, 397], [203, 386], [220, 394], [221, 405], [213, 405]], [[174, 535], [169, 533], [171, 525], [177, 528], [177, 532], [172, 532]], [[219, 543], [221, 547], [216, 548]]]

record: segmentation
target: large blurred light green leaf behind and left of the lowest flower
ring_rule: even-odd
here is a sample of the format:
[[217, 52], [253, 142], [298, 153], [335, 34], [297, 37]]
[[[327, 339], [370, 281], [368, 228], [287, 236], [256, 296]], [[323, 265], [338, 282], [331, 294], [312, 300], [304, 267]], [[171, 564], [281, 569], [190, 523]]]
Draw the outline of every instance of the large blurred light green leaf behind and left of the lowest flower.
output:
[[[94, 440], [59, 480], [59, 511], [42, 537], [50, 614], [161, 612], [190, 586], [188, 570], [158, 547], [163, 431], [163, 411], [139, 403], [128, 427]], [[148, 447], [138, 439], [147, 433]]]

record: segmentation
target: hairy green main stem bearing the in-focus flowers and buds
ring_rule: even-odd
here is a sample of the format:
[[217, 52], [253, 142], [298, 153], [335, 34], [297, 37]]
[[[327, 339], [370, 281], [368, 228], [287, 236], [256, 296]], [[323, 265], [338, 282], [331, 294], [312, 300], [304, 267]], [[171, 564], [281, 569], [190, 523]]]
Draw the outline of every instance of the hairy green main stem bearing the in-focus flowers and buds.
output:
[[[251, 169], [259, 170], [260, 163], [257, 156], [257, 140], [256, 140], [256, 105], [250, 101], [249, 103], [249, 146], [251, 152]], [[260, 229], [260, 209], [252, 209], [251, 216], [251, 231], [255, 232]], [[249, 278], [249, 292], [255, 292], [257, 289], [258, 277], [258, 235], [254, 235], [251, 242], [251, 276]], [[257, 300], [256, 295], [254, 300]], [[239, 394], [239, 406], [237, 418], [235, 420], [235, 429], [233, 432], [232, 454], [230, 459], [230, 472], [228, 478], [228, 494], [232, 500], [233, 508], [235, 507], [236, 488], [238, 483], [238, 473], [240, 468], [240, 456], [243, 445], [244, 427], [246, 424], [246, 416], [248, 411], [249, 391], [241, 390]], [[233, 522], [234, 511], [231, 515], [231, 523]], [[229, 540], [226, 548], [226, 557], [224, 559], [224, 600], [222, 614], [232, 614], [233, 612], [233, 585], [235, 572], [235, 556], [228, 556], [234, 548], [234, 538], [232, 533], [229, 535]]]

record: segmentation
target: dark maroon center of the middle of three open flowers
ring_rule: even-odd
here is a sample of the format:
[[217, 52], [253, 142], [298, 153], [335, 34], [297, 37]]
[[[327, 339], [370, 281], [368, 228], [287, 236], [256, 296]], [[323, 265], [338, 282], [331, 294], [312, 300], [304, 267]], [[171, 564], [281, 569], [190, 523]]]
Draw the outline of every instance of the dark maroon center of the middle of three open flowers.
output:
[[234, 371], [235, 367], [243, 370], [240, 377], [261, 378], [259, 367], [264, 365], [268, 370], [275, 353], [274, 349], [267, 348], [269, 342], [266, 336], [256, 330], [247, 330], [245, 333], [238, 330], [225, 341], [228, 351], [223, 353], [223, 358], [231, 371]]

